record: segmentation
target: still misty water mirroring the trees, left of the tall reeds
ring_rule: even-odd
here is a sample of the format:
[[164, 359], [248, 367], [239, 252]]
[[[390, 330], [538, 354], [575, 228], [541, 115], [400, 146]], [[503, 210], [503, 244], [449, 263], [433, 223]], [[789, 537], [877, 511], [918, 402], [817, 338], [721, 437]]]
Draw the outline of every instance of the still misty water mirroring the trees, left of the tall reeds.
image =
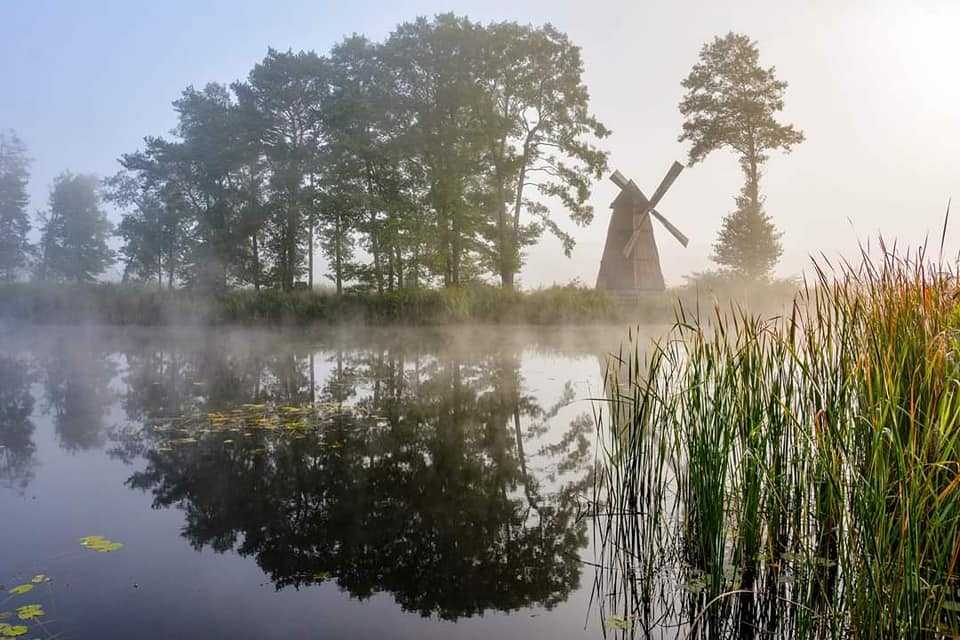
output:
[[26, 638], [597, 637], [587, 399], [622, 337], [7, 330], [0, 583], [51, 581], [0, 612], [42, 604]]

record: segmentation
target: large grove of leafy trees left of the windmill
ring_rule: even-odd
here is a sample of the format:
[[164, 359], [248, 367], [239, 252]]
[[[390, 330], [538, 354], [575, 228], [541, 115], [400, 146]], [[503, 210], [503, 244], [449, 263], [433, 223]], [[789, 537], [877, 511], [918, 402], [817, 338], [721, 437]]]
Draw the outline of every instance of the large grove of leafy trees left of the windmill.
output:
[[328, 55], [270, 49], [243, 82], [188, 87], [172, 138], [121, 158], [126, 273], [291, 289], [317, 244], [338, 291], [513, 287], [544, 231], [573, 250], [558, 211], [592, 219], [609, 131], [582, 74], [550, 25], [453, 14]]

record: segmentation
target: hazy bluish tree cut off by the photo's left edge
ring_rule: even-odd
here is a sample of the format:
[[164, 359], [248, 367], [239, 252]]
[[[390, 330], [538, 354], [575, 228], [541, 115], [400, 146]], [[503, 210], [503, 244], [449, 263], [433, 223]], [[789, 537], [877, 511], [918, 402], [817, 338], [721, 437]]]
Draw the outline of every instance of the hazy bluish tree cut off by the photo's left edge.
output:
[[29, 165], [23, 141], [13, 131], [0, 131], [0, 281], [15, 280], [32, 254], [27, 239]]

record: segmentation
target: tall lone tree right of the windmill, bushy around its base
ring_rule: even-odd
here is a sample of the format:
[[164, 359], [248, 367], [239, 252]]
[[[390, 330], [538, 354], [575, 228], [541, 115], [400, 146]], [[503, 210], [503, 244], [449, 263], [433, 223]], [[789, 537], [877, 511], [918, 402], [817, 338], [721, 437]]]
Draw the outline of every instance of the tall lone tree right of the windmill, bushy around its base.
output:
[[767, 276], [782, 253], [780, 234], [763, 210], [763, 166], [770, 152], [789, 153], [804, 140], [793, 125], [777, 122], [787, 83], [777, 80], [774, 67], [761, 67], [759, 58], [757, 43], [745, 35], [714, 38], [682, 82], [687, 93], [680, 102], [679, 140], [691, 143], [691, 166], [723, 148], [739, 156], [744, 185], [736, 210], [723, 221], [713, 260], [750, 279]]

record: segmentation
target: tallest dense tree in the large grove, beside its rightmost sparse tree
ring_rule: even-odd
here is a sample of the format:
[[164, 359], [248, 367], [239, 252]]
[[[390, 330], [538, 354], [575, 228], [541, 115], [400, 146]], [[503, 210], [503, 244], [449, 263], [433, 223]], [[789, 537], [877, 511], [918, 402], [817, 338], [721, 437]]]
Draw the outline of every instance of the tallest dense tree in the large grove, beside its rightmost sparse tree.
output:
[[482, 123], [473, 108], [483, 99], [476, 75], [480, 33], [479, 25], [453, 14], [418, 18], [397, 27], [381, 50], [388, 117], [400, 129], [397, 145], [414, 159], [422, 180], [418, 204], [431, 218], [427, 264], [444, 286], [467, 279], [482, 224], [469, 202], [483, 174]]

